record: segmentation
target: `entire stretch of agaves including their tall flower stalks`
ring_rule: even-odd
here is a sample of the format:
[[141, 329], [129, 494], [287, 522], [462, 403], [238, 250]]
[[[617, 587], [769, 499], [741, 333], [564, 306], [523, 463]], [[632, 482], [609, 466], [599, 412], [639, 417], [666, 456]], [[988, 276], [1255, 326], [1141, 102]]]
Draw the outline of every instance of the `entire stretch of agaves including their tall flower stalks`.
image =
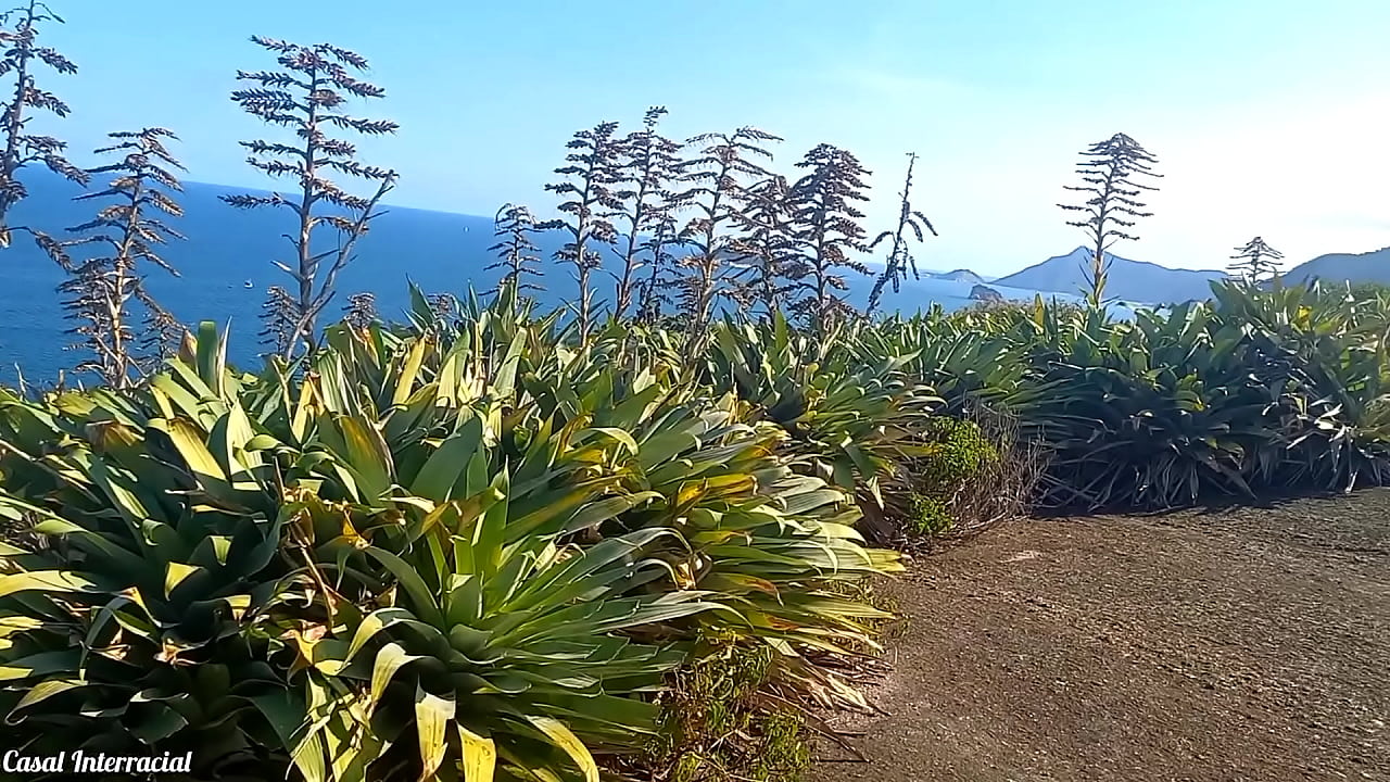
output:
[[[189, 334], [142, 285], [172, 271], [172, 134], [111, 134], [114, 163], [72, 167], [26, 129], [67, 113], [33, 82], [75, 71], [36, 43], [60, 19], [29, 3], [0, 21], [0, 220], [29, 164], [110, 177], [67, 237], [0, 228], [64, 269], [104, 380], [0, 388], [7, 749], [193, 751], [199, 779], [784, 779], [817, 708], [865, 705], [847, 673], [888, 618], [867, 587], [902, 568], [887, 547], [1029, 506], [1390, 476], [1383, 291], [1266, 288], [1277, 253], [1257, 238], [1212, 301], [1106, 316], [1102, 259], [1145, 216], [1129, 179], [1154, 161], [1123, 134], [1084, 153], [1088, 200], [1066, 207], [1095, 248], [1087, 306], [866, 317], [842, 296], [863, 252], [887, 252], [877, 303], [935, 234], [916, 156], [869, 241], [849, 152], [817, 145], [788, 178], [771, 134], [678, 143], [653, 107], [639, 131], [575, 134], [546, 186], [557, 220], [498, 212], [505, 274], [482, 301], [416, 289], [389, 323], [357, 292], [321, 328], [396, 182], [328, 131], [395, 124], [339, 113], [384, 95], [353, 75], [364, 58], [267, 38], [281, 70], [239, 72], [232, 97], [288, 128], [245, 146], [297, 191], [227, 200], [292, 216], [293, 285], [268, 291], [264, 367], [238, 370], [227, 334]], [[525, 298], [542, 230], [581, 291], [553, 313]]]

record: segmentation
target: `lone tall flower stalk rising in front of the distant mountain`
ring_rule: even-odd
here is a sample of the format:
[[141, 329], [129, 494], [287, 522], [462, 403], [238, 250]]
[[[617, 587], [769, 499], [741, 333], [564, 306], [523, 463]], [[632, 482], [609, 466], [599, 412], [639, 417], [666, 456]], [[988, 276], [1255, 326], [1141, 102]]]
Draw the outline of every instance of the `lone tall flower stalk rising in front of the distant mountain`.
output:
[[1068, 225], [1083, 228], [1091, 238], [1091, 266], [1086, 270], [1090, 289], [1084, 294], [1093, 308], [1101, 308], [1105, 303], [1105, 281], [1111, 266], [1106, 253], [1119, 239], [1137, 241], [1138, 237], [1126, 231], [1137, 218], [1152, 217], [1151, 212], [1143, 212], [1145, 205], [1136, 198], [1141, 191], [1158, 188], [1136, 182], [1133, 178], [1141, 175], [1156, 178], [1161, 174], [1151, 170], [1158, 159], [1125, 134], [1115, 134], [1091, 145], [1081, 153], [1081, 159], [1076, 173], [1083, 184], [1066, 185], [1066, 189], [1088, 193], [1091, 198], [1081, 205], [1058, 206], [1086, 216], [1083, 220], [1069, 221]]

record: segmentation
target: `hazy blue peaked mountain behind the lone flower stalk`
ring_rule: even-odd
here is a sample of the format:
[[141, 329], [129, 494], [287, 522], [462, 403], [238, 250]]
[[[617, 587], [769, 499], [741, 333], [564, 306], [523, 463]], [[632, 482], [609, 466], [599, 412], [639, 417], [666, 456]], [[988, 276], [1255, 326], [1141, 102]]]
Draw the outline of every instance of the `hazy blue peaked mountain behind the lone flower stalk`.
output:
[[[1225, 271], [1168, 269], [1156, 263], [1129, 260], [1106, 255], [1111, 262], [1109, 278], [1105, 282], [1108, 298], [1141, 303], [1188, 302], [1211, 298], [1211, 282], [1226, 278]], [[1086, 269], [1091, 263], [1091, 250], [1074, 250], [1049, 257], [1023, 271], [999, 277], [999, 285], [1076, 294], [1087, 287]]]

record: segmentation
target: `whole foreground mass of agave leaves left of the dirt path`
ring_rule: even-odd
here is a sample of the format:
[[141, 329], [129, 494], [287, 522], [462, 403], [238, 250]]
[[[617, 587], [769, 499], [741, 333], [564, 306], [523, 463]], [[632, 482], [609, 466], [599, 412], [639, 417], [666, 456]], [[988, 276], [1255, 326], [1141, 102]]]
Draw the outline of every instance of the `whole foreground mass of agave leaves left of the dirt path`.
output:
[[655, 754], [695, 648], [762, 655], [781, 731], [862, 703], [835, 668], [884, 615], [847, 596], [899, 565], [819, 454], [660, 338], [509, 302], [420, 296], [256, 376], [208, 327], [126, 394], [4, 392], [0, 508], [47, 541], [4, 551], [7, 743], [596, 779]]

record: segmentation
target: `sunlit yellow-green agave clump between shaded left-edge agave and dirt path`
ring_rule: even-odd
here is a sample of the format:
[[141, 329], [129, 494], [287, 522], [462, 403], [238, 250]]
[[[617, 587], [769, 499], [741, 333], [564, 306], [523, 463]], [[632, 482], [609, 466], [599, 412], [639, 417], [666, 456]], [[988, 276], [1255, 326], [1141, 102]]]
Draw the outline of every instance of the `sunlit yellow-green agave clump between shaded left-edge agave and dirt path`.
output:
[[820, 655], [881, 614], [830, 586], [901, 565], [781, 429], [619, 324], [581, 346], [495, 302], [421, 326], [329, 330], [243, 392], [320, 584], [267, 618], [297, 650], [303, 775], [588, 778], [712, 630], [773, 644], [788, 692], [862, 703]]

